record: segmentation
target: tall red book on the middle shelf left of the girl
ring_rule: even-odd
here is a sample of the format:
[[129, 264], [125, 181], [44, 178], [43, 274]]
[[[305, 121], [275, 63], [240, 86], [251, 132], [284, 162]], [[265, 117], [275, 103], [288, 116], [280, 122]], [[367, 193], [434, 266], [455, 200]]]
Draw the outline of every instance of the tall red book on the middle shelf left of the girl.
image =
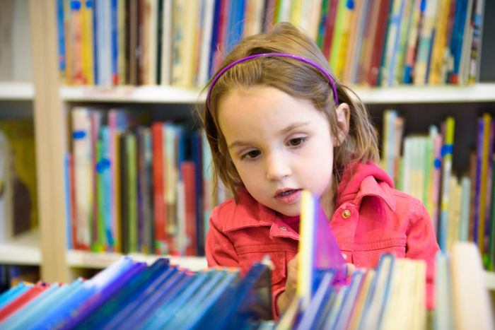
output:
[[155, 253], [168, 254], [165, 235], [165, 198], [163, 196], [163, 122], [151, 124], [153, 141], [153, 217], [155, 228]]

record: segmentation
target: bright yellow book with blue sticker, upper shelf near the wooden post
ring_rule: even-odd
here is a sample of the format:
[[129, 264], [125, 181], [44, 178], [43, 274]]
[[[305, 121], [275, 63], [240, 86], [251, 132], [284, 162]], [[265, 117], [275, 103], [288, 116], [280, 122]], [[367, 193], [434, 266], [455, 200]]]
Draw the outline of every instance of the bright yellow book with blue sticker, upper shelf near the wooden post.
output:
[[93, 1], [82, 1], [81, 4], [81, 38], [83, 43], [83, 84], [94, 85]]

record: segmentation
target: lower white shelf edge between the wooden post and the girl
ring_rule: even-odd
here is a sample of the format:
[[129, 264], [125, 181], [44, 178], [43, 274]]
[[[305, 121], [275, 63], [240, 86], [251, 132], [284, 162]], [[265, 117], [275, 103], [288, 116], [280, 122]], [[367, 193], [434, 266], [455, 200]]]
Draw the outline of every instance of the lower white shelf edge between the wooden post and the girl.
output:
[[[80, 250], [68, 250], [66, 253], [69, 267], [93, 269], [104, 269], [110, 266], [112, 262], [120, 259], [122, 255], [120, 253], [93, 253]], [[139, 253], [127, 254], [127, 256], [132, 257], [135, 261], [144, 261], [147, 264], [152, 264], [158, 257], [169, 258], [170, 264], [184, 267], [190, 271], [200, 271], [207, 267], [205, 257], [173, 257]]]

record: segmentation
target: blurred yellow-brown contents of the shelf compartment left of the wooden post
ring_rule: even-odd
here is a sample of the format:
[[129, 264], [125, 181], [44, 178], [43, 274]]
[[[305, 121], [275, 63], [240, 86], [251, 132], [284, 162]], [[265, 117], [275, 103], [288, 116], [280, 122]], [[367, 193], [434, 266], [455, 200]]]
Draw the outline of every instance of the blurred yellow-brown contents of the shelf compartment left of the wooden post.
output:
[[37, 227], [33, 122], [0, 120], [0, 242]]

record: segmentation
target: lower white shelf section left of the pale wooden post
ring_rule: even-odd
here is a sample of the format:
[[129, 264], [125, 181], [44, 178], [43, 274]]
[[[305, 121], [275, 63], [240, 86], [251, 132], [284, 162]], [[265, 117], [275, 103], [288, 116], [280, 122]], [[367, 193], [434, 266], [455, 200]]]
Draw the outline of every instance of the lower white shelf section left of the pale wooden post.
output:
[[0, 243], [0, 264], [41, 264], [40, 234], [37, 229], [23, 232]]

